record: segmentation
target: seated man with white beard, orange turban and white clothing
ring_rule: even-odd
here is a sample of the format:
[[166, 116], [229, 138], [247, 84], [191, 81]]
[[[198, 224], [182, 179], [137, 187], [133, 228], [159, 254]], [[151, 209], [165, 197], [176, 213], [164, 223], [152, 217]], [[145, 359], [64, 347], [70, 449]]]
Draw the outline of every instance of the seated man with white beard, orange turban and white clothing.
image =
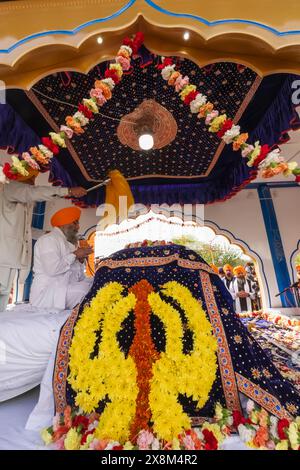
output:
[[91, 248], [76, 248], [78, 207], [67, 207], [51, 218], [53, 230], [43, 235], [34, 247], [34, 278], [30, 303], [43, 309], [74, 308], [87, 294], [92, 281], [85, 277], [80, 262]]

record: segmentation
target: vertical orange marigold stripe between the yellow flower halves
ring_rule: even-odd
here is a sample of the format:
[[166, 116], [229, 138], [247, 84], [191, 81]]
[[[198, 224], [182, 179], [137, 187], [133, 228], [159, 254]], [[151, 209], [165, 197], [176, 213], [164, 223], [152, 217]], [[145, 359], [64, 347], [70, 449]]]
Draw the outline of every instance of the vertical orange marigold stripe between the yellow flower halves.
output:
[[136, 400], [136, 414], [131, 425], [132, 440], [136, 440], [141, 429], [150, 430], [150, 380], [153, 375], [152, 365], [159, 358], [159, 353], [156, 351], [151, 337], [151, 307], [148, 303], [148, 295], [153, 291], [153, 287], [145, 279], [139, 281], [129, 290], [137, 299], [134, 321], [135, 337], [130, 347], [129, 355], [135, 361], [137, 368], [137, 384], [139, 388]]

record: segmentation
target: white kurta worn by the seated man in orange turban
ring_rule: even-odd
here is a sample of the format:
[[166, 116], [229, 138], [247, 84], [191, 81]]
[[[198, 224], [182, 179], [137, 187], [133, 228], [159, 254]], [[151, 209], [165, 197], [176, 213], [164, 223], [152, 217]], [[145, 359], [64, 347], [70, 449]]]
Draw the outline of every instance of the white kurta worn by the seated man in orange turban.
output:
[[57, 227], [38, 239], [34, 247], [31, 305], [71, 309], [87, 294], [92, 280], [84, 276], [74, 251], [75, 246]]

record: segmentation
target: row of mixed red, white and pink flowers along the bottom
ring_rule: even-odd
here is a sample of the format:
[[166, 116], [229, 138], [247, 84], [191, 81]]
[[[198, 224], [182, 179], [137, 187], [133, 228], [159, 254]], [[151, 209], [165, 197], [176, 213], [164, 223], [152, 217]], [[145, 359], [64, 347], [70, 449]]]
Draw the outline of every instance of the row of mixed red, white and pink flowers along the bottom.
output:
[[96, 437], [98, 414], [85, 415], [68, 406], [62, 416], [54, 416], [52, 425], [41, 431], [41, 437], [54, 450], [218, 450], [237, 430], [241, 440], [254, 449], [300, 450], [300, 417], [278, 419], [251, 400], [247, 402], [246, 415], [217, 403], [212, 422], [190, 428], [171, 441], [160, 439], [152, 430], [140, 430], [135, 442], [122, 443]]

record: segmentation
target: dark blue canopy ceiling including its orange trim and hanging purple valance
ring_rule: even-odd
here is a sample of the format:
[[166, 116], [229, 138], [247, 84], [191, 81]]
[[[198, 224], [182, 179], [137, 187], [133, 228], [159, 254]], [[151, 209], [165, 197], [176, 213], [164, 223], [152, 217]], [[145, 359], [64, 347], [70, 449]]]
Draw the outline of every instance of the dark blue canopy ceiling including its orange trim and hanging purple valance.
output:
[[[188, 59], [174, 60], [220, 113], [226, 112], [249, 133], [250, 143], [260, 139], [274, 145], [286, 138], [287, 130], [298, 127], [291, 100], [291, 83], [298, 77], [276, 74], [262, 79], [253, 70], [231, 62], [199, 68]], [[100, 108], [85, 133], [74, 136], [54, 159], [52, 181], [90, 187], [105, 179], [111, 169], [118, 169], [129, 179], [137, 202], [211, 203], [231, 197], [255, 177], [240, 153], [210, 133], [203, 120], [192, 115], [174, 88], [166, 84], [157, 69], [160, 62], [161, 57], [142, 48], [115, 87], [112, 99]], [[50, 128], [59, 130], [106, 68], [107, 63], [101, 63], [87, 75], [49, 75], [29, 92], [10, 90], [8, 101], [41, 137]], [[139, 151], [118, 139], [120, 120], [144, 100], [155, 100], [176, 120], [176, 138], [163, 148]], [[91, 192], [85, 203], [98, 204], [102, 197], [101, 191]]]

